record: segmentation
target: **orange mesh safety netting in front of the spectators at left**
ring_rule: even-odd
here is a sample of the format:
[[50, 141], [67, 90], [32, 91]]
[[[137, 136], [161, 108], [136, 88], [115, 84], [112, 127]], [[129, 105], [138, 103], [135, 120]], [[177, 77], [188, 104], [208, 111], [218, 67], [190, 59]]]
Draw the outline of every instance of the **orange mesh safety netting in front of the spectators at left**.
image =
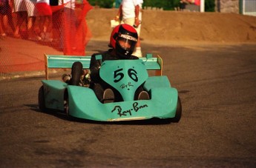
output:
[[[27, 10], [38, 10], [38, 8], [40, 5], [36, 7], [35, 4], [34, 7], [30, 5]], [[30, 16], [28, 13], [31, 11], [27, 11], [28, 15], [25, 16], [24, 12], [21, 16], [19, 13], [8, 13], [8, 18], [3, 16], [1, 26], [6, 31], [7, 37], [0, 36], [0, 75], [44, 70], [42, 52], [47, 50], [51, 50], [51, 53], [61, 52], [65, 56], [85, 56], [85, 47], [91, 38], [91, 31], [85, 18], [92, 8], [88, 1], [76, 4], [75, 7], [68, 2], [51, 6], [50, 10], [53, 14], [45, 18], [36, 14]], [[10, 16], [12, 16], [11, 21]], [[15, 30], [10, 26], [10, 22], [14, 27], [20, 25], [19, 36], [15, 36]]]

